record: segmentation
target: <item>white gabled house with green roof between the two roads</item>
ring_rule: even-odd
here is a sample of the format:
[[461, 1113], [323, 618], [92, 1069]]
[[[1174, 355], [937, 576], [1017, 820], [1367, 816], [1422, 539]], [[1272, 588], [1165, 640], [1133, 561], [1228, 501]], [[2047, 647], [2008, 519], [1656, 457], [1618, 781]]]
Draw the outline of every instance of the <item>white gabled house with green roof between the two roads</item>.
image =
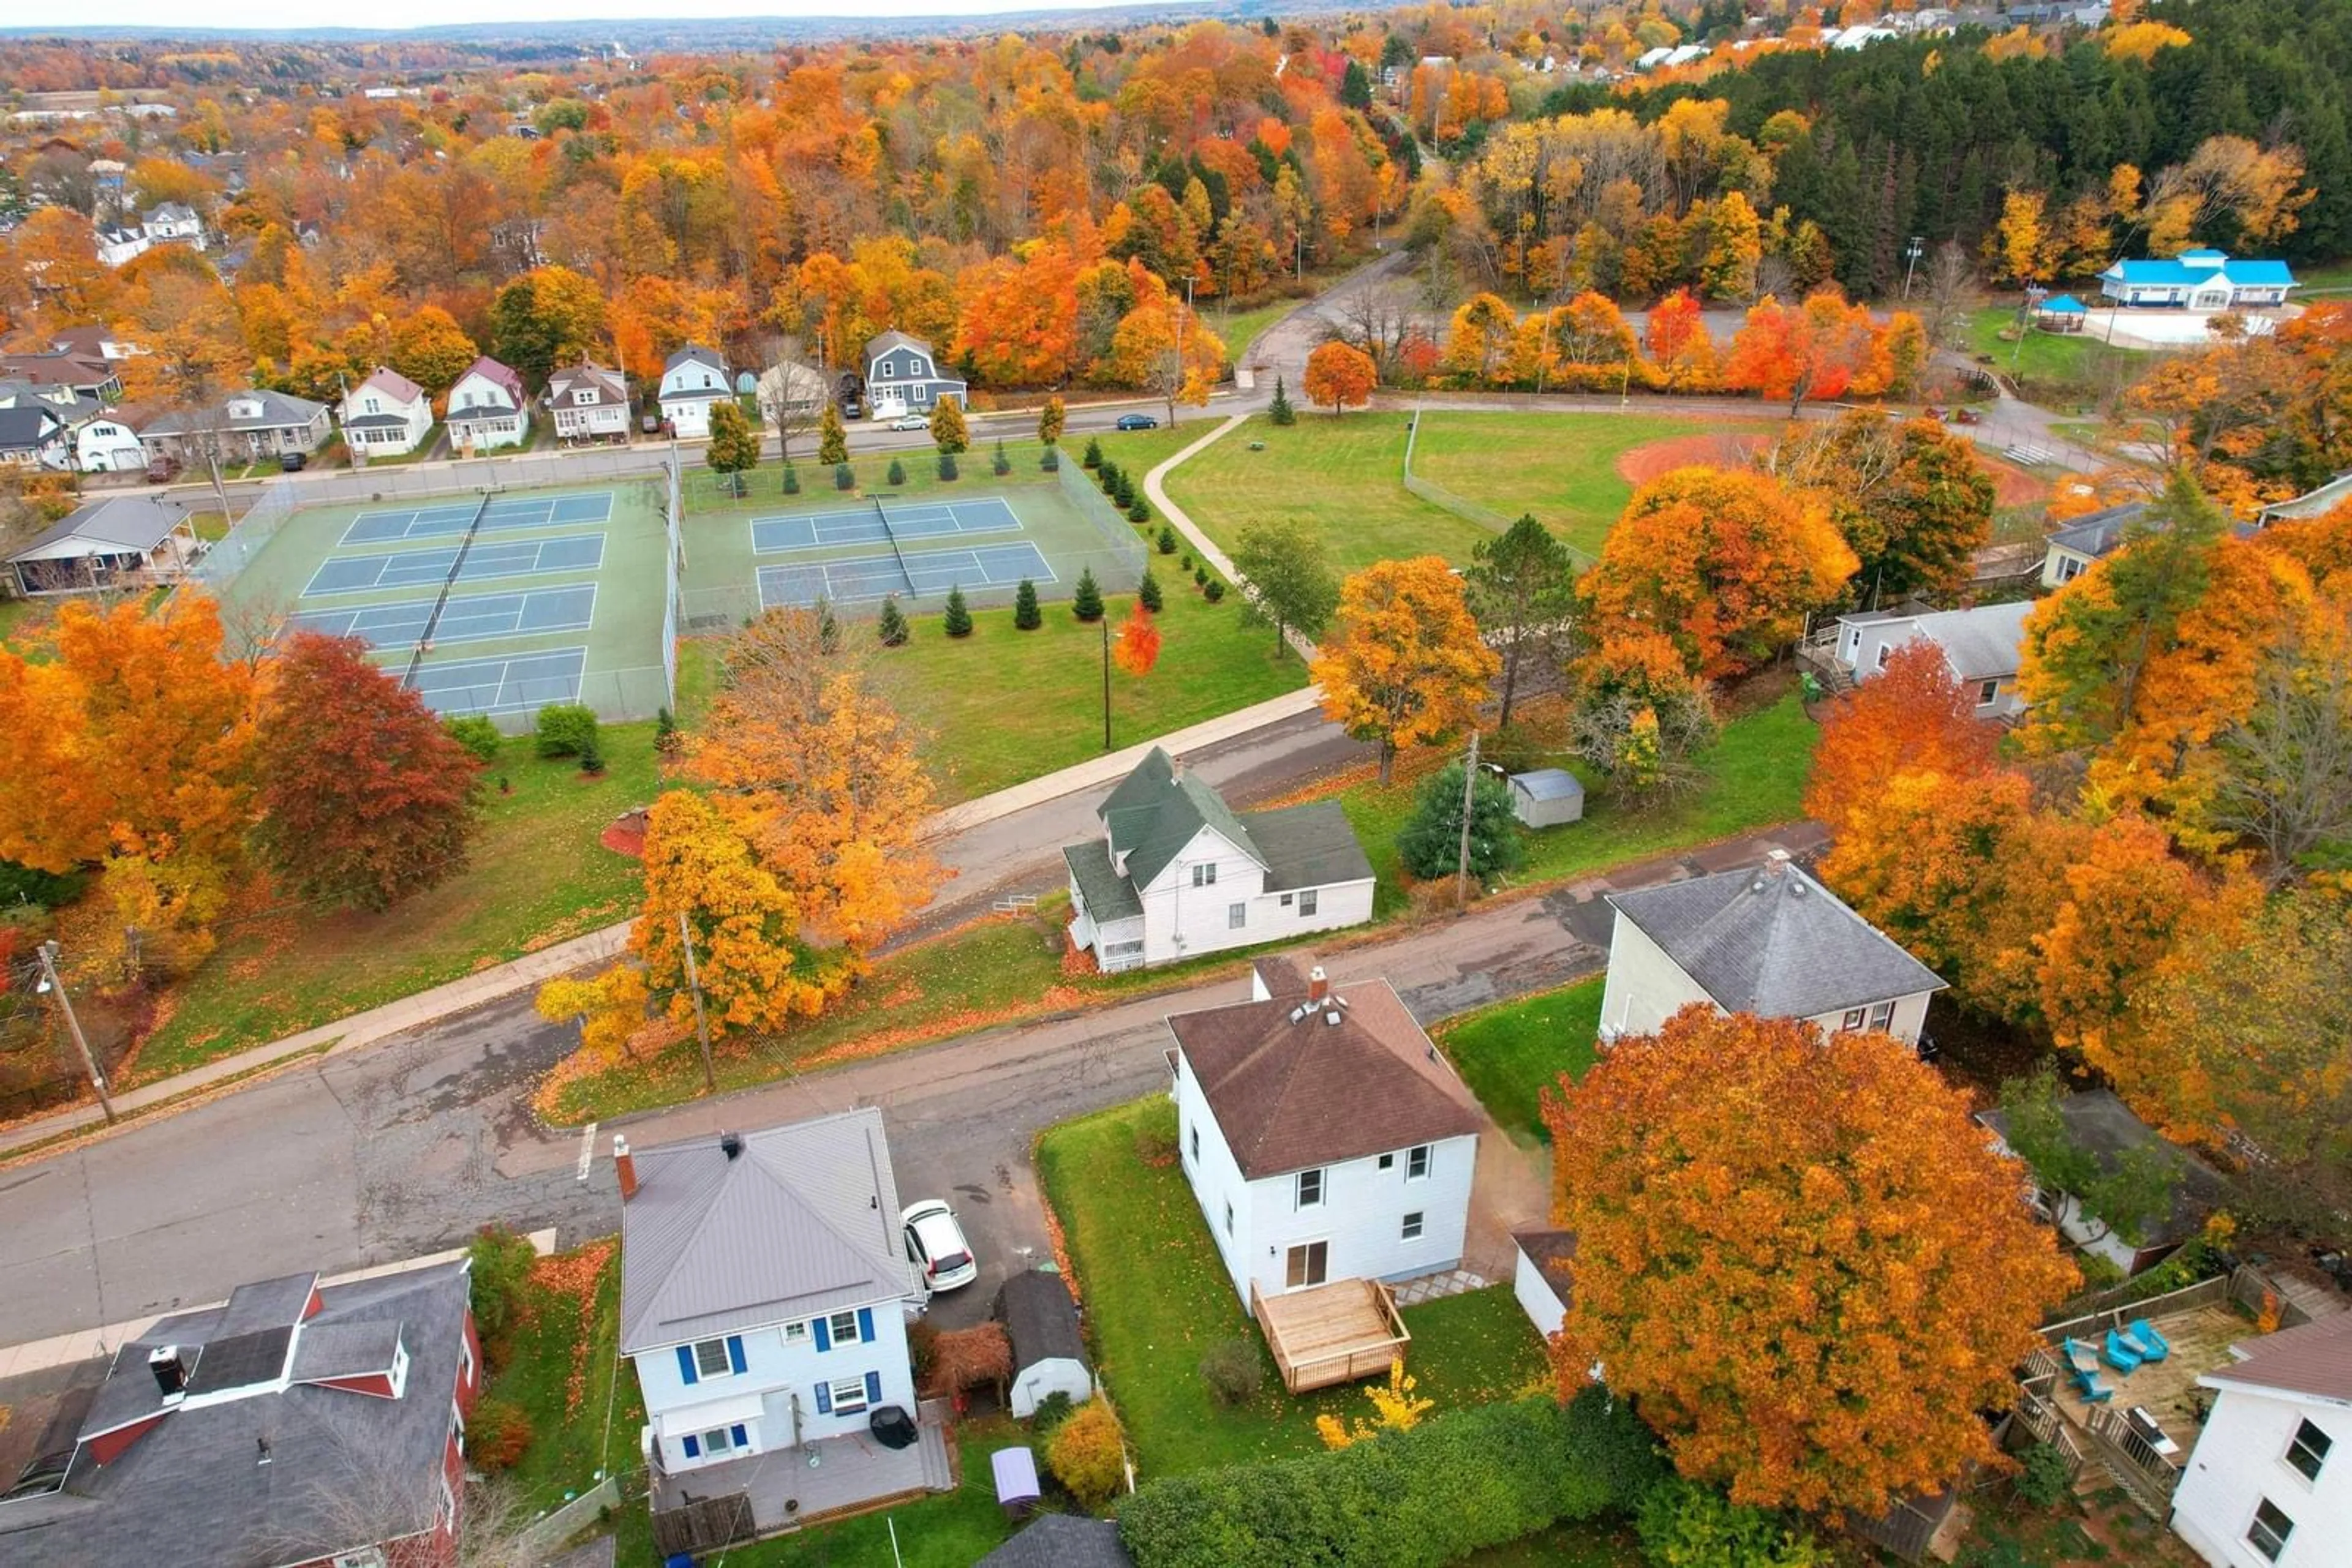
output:
[[1157, 745], [1068, 844], [1070, 940], [1105, 973], [1371, 919], [1371, 860], [1338, 802], [1230, 811]]

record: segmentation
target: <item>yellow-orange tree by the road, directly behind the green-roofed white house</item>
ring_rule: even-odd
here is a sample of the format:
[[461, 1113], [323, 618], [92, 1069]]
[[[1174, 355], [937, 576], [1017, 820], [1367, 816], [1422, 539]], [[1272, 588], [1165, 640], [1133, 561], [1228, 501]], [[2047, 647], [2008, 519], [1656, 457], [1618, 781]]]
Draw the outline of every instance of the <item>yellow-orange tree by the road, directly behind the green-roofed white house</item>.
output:
[[1331, 637], [1312, 665], [1324, 715], [1381, 748], [1383, 785], [1399, 748], [1470, 724], [1498, 670], [1461, 578], [1435, 555], [1374, 562], [1341, 583]]

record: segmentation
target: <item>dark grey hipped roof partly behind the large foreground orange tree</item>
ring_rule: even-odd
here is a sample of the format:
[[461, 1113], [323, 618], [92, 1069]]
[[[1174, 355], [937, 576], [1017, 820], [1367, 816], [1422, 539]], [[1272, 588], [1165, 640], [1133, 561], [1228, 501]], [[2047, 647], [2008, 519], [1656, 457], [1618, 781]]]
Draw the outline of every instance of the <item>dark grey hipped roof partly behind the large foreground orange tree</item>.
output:
[[1945, 985], [1790, 863], [1609, 893], [1609, 905], [1726, 1013], [1818, 1018]]

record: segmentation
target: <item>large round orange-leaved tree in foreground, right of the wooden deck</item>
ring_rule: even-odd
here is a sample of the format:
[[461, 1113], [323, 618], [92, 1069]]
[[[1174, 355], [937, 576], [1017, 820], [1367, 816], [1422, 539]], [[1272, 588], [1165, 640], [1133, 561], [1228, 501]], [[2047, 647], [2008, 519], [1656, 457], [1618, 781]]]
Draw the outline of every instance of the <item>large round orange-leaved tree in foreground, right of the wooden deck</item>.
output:
[[1576, 1232], [1562, 1399], [1599, 1375], [1757, 1507], [1877, 1514], [1999, 1465], [1980, 1413], [2077, 1274], [1907, 1046], [1686, 1006], [1543, 1121]]

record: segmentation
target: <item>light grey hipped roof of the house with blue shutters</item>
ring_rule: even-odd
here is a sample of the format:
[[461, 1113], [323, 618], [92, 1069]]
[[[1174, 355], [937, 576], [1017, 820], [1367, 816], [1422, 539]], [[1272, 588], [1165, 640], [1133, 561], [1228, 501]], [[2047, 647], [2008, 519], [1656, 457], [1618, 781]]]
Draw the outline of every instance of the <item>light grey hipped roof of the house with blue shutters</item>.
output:
[[637, 1150], [621, 1206], [621, 1354], [917, 1293], [873, 1107]]

